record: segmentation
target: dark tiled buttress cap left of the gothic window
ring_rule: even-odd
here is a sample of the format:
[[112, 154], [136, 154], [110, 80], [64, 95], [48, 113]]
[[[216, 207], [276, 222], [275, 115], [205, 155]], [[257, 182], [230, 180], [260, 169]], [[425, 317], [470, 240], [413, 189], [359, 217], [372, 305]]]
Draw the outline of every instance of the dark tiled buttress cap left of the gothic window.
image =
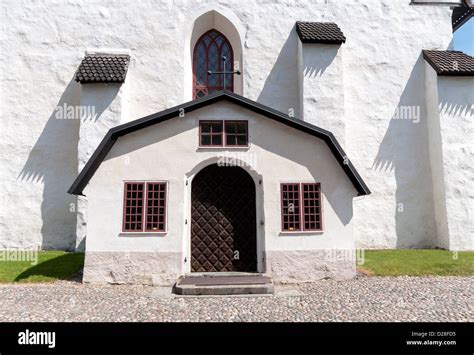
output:
[[125, 54], [88, 54], [76, 72], [81, 84], [123, 83], [127, 75], [130, 56]]

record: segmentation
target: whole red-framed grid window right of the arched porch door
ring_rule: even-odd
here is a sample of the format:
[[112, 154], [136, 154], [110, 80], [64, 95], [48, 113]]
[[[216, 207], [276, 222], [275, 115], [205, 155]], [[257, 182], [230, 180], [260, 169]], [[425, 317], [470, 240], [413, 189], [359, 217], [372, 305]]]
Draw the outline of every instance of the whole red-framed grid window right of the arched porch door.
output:
[[281, 184], [282, 231], [322, 230], [321, 185]]

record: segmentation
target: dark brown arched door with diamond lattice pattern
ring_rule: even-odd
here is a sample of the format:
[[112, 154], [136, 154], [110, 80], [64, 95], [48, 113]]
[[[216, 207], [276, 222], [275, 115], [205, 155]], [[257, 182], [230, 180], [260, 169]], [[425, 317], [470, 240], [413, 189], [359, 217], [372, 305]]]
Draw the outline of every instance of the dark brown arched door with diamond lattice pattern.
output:
[[192, 181], [191, 271], [257, 271], [255, 184], [239, 167], [210, 165]]

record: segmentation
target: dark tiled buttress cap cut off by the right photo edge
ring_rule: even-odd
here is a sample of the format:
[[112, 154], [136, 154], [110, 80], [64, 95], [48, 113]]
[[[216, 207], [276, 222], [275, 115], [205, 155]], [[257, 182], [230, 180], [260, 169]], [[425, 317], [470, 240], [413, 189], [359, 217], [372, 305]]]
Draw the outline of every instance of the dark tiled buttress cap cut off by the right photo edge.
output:
[[438, 75], [474, 76], [474, 57], [463, 52], [423, 50], [423, 58]]

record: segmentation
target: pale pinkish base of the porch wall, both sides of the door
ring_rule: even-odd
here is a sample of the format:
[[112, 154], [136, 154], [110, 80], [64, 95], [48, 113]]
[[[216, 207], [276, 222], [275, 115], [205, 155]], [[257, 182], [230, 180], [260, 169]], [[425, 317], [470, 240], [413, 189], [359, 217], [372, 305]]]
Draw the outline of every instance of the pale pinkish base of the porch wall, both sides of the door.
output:
[[[346, 280], [356, 275], [355, 253], [347, 250], [268, 251], [266, 274], [276, 284]], [[181, 253], [87, 252], [84, 282], [173, 285], [183, 274]]]

